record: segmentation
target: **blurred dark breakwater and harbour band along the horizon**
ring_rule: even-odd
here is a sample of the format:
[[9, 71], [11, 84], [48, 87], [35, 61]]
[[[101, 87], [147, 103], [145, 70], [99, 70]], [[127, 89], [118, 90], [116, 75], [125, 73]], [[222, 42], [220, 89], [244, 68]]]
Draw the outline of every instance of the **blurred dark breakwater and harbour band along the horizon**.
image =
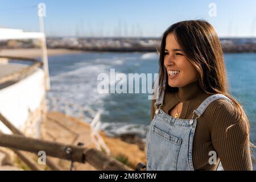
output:
[[[224, 52], [256, 52], [256, 38], [221, 38]], [[32, 40], [0, 42], [1, 48], [33, 48], [40, 42]], [[47, 38], [48, 48], [83, 51], [155, 52], [160, 38]]]

